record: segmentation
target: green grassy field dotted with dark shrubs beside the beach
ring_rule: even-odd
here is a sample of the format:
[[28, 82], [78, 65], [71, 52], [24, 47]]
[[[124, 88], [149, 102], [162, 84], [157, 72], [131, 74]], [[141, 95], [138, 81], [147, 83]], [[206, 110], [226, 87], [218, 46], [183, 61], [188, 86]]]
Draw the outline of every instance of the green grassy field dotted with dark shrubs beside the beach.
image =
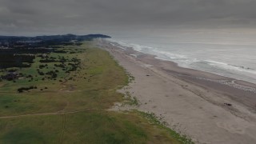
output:
[[[106, 51], [90, 42], [62, 50], [48, 56], [65, 62], [37, 57], [30, 68], [17, 69], [24, 78], [0, 82], [0, 143], [186, 143], [147, 114], [107, 110], [123, 101], [116, 90], [129, 79]], [[30, 86], [36, 88], [18, 92]]]

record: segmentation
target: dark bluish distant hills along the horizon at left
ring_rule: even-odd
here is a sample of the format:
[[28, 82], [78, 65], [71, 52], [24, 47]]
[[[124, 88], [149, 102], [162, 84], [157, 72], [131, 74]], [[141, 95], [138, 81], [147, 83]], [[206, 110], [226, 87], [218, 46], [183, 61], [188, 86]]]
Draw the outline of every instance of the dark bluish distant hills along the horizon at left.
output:
[[103, 34], [88, 34], [88, 35], [74, 35], [74, 34], [65, 34], [65, 35], [44, 35], [36, 37], [22, 37], [22, 36], [0, 36], [0, 42], [17, 42], [17, 41], [85, 41], [92, 40], [94, 38], [111, 38], [108, 35]]

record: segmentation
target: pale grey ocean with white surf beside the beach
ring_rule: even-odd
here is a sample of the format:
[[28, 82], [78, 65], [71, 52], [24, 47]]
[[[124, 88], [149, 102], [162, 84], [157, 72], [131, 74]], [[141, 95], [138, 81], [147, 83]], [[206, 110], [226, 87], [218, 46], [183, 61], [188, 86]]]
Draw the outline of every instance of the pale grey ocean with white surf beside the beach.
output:
[[108, 39], [122, 46], [178, 66], [202, 70], [256, 84], [256, 41], [250, 34], [175, 33], [116, 36]]

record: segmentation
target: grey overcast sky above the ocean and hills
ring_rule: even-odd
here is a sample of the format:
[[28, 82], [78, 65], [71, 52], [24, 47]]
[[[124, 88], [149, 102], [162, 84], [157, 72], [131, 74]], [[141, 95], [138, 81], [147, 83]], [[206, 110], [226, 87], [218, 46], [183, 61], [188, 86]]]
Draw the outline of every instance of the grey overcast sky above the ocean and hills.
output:
[[256, 28], [256, 0], [0, 0], [0, 35]]

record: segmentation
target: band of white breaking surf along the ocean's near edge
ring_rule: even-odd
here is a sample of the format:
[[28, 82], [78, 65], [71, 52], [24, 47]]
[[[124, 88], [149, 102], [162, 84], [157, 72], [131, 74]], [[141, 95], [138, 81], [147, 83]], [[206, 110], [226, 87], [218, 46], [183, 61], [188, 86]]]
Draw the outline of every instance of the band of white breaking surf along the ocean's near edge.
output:
[[188, 55], [162, 50], [161, 47], [142, 46], [134, 43], [119, 42], [114, 39], [110, 39], [109, 42], [116, 43], [116, 46], [122, 48], [123, 50], [132, 48], [133, 50], [142, 52], [144, 54], [153, 54], [158, 59], [176, 62], [178, 63], [178, 66], [202, 70], [247, 82], [256, 82], [256, 70], [254, 68], [233, 65], [226, 62], [217, 62], [210, 59], [202, 59], [199, 55], [198, 58], [190, 58]]

